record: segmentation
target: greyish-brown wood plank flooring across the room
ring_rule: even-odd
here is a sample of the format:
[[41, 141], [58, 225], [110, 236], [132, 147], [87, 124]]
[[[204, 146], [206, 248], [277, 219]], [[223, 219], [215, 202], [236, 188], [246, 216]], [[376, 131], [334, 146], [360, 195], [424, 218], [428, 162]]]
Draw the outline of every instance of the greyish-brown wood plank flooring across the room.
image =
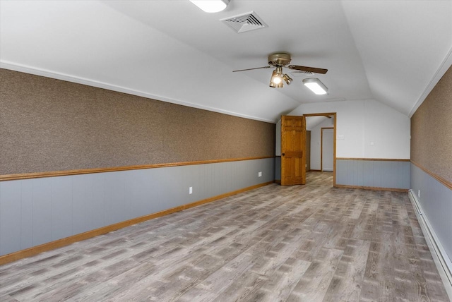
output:
[[0, 267], [0, 301], [449, 301], [407, 193], [273, 184]]

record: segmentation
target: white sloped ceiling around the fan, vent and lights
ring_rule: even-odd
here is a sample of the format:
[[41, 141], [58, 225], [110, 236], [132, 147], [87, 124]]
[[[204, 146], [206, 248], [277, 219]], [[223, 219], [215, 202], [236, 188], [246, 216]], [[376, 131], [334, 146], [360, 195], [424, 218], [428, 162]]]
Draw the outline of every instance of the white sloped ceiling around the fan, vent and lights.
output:
[[[220, 19], [254, 11], [268, 28]], [[376, 99], [409, 116], [452, 64], [452, 1], [247, 1], [203, 13], [188, 0], [0, 1], [0, 63], [51, 78], [261, 121], [307, 102]], [[272, 52], [328, 95], [270, 88]], [[286, 69], [286, 72], [290, 70]], [[310, 76], [312, 77], [312, 76]]]

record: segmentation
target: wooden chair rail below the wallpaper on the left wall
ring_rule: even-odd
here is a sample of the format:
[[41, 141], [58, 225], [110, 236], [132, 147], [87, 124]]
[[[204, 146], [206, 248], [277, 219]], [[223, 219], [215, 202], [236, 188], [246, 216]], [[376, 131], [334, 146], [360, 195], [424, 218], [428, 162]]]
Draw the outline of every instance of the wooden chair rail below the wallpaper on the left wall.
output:
[[216, 164], [219, 162], [240, 162], [242, 160], [267, 159], [267, 158], [274, 158], [274, 156], [243, 157], [243, 158], [231, 158], [231, 159], [212, 159], [212, 160], [202, 160], [202, 161], [196, 161], [196, 162], [171, 162], [171, 163], [166, 163], [166, 164], [142, 164], [142, 165], [136, 165], [136, 166], [90, 168], [90, 169], [76, 169], [76, 170], [50, 171], [50, 172], [32, 172], [32, 173], [23, 173], [23, 174], [4, 174], [4, 175], [0, 175], [0, 181], [13, 181], [13, 180], [18, 180], [18, 179], [40, 179], [43, 177], [53, 177], [53, 176], [68, 176], [68, 175], [93, 174], [93, 173], [104, 173], [104, 172], [113, 172], [113, 171], [128, 171], [128, 170], [139, 170], [139, 169], [190, 166], [192, 164]]

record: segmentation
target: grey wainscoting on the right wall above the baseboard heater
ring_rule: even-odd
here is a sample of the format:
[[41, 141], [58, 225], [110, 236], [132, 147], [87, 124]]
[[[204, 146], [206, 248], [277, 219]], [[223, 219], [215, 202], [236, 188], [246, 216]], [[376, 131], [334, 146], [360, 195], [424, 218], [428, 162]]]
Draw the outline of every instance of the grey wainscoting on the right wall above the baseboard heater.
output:
[[452, 190], [411, 164], [411, 189], [449, 260], [452, 260]]

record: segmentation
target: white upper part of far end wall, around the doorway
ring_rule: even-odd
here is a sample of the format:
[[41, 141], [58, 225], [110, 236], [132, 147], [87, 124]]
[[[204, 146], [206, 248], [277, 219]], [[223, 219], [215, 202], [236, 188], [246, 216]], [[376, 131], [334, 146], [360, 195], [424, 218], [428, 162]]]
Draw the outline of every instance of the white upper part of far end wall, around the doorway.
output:
[[373, 99], [302, 104], [288, 115], [326, 112], [336, 112], [337, 138], [343, 135], [336, 157], [410, 159], [410, 119]]

